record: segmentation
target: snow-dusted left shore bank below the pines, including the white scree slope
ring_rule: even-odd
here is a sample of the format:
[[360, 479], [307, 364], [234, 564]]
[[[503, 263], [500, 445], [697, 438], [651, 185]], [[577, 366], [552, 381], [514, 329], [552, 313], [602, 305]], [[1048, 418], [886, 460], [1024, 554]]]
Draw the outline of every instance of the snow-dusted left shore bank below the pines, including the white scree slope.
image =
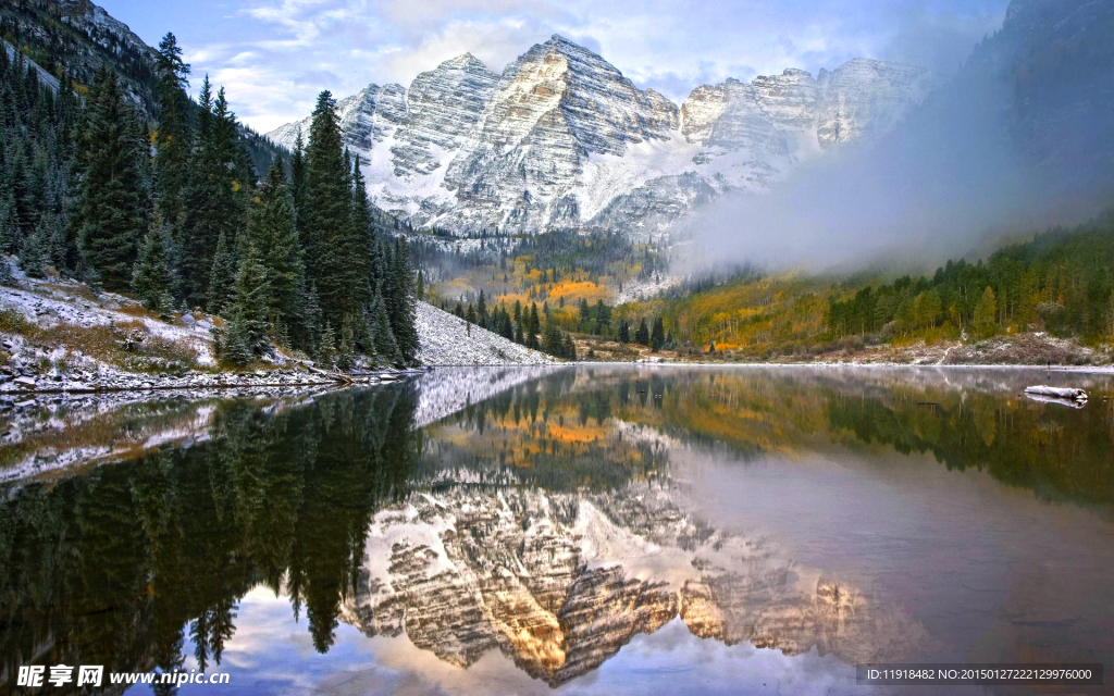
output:
[[[414, 372], [363, 364], [342, 378], [281, 352], [266, 359], [266, 369], [221, 371], [212, 332], [218, 317], [189, 313], [164, 321], [134, 300], [72, 281], [18, 282], [0, 287], [0, 401], [8, 404], [36, 393], [374, 384]], [[423, 302], [418, 333], [421, 367], [556, 362]]]

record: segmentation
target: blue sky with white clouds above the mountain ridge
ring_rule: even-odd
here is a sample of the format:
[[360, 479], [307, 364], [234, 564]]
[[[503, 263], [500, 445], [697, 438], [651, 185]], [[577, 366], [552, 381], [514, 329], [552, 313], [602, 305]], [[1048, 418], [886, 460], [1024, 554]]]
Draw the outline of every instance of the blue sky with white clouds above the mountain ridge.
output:
[[492, 70], [553, 33], [595, 50], [639, 87], [682, 101], [727, 77], [856, 57], [955, 71], [1001, 26], [1008, 0], [98, 0], [150, 45], [174, 31], [193, 65], [261, 131], [370, 82], [409, 85], [466, 51]]

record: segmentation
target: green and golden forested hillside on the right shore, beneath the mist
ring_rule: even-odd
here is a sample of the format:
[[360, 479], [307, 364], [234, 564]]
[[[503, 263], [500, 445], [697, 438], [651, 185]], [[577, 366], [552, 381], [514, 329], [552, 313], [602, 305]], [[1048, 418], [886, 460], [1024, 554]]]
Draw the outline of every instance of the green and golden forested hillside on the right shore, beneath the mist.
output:
[[[600, 315], [606, 318], [597, 321]], [[656, 321], [663, 341], [634, 331]], [[1036, 234], [985, 259], [949, 261], [932, 275], [836, 278], [747, 269], [648, 301], [586, 307], [570, 329], [678, 355], [726, 351], [737, 359], [1027, 332], [1101, 347], [1114, 342], [1114, 213]]]

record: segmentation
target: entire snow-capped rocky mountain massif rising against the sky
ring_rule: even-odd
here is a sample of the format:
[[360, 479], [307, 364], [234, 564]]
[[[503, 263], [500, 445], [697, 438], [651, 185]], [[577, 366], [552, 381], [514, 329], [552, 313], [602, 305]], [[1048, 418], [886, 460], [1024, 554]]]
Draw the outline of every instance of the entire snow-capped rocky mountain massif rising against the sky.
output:
[[[466, 53], [338, 108], [373, 200], [416, 227], [631, 232], [892, 130], [932, 87], [920, 68], [856, 59], [698, 87], [678, 107], [554, 36], [501, 76]], [[309, 119], [268, 136], [290, 147], [299, 128]]]

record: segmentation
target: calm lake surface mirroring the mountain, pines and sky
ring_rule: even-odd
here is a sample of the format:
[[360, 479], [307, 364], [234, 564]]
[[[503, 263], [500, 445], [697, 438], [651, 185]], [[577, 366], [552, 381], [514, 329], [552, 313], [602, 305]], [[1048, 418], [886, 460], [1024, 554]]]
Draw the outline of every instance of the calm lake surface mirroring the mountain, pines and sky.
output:
[[1055, 692], [854, 665], [1114, 666], [1111, 395], [577, 366], [9, 412], [0, 692], [31, 664], [221, 694]]

